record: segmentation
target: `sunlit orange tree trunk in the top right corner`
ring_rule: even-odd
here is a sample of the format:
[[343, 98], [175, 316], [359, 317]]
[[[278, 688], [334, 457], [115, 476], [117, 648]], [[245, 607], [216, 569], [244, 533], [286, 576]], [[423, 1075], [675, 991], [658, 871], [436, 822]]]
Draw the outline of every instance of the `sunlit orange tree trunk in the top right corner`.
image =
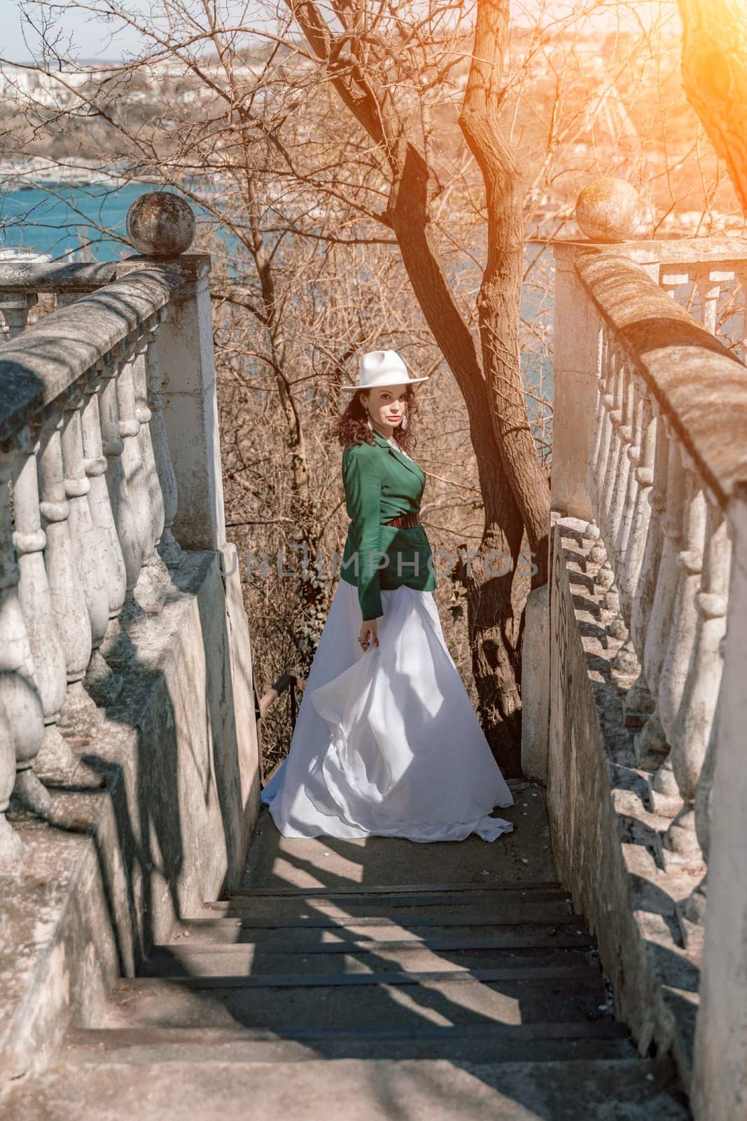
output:
[[744, 0], [679, 0], [679, 6], [684, 92], [747, 214], [747, 8]]

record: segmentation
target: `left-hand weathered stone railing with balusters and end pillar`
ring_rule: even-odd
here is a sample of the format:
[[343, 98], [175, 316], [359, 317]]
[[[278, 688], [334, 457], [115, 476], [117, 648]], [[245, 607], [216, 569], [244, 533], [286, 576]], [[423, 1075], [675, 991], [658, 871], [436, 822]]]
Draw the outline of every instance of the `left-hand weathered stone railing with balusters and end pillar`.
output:
[[[0, 873], [22, 860], [11, 798], [48, 813], [39, 776], [69, 772], [116, 696], [122, 623], [160, 611], [177, 537], [224, 544], [209, 259], [174, 256], [156, 198], [129, 226], [150, 257], [0, 265]], [[56, 309], [28, 326], [41, 293]]]

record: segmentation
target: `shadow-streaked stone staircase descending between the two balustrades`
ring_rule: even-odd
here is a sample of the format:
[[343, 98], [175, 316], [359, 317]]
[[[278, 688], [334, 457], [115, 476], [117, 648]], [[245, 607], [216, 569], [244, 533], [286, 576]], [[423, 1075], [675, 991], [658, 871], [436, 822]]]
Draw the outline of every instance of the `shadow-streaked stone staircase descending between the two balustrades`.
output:
[[246, 887], [155, 946], [0, 1115], [684, 1121], [523, 841], [295, 842], [263, 815]]

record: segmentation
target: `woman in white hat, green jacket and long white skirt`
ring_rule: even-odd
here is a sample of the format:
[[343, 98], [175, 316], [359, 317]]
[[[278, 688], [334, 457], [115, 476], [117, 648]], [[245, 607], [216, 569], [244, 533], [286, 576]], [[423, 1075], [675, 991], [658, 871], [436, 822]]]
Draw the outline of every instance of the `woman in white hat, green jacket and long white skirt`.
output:
[[489, 816], [513, 798], [443, 640], [418, 521], [426, 476], [404, 446], [426, 380], [373, 351], [343, 387], [342, 578], [288, 758], [262, 793], [283, 836], [494, 841], [513, 827]]

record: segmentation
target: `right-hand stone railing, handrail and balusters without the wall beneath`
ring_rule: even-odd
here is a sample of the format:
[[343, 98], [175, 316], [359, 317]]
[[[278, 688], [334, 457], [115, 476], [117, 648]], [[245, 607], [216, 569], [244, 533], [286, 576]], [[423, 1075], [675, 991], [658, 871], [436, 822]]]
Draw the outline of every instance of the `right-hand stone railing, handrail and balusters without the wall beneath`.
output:
[[682, 908], [699, 926], [725, 634], [744, 626], [730, 586], [747, 563], [731, 543], [747, 483], [747, 243], [558, 259], [553, 508], [588, 519], [596, 541], [625, 721], [652, 809], [671, 823], [665, 865], [700, 878]]

